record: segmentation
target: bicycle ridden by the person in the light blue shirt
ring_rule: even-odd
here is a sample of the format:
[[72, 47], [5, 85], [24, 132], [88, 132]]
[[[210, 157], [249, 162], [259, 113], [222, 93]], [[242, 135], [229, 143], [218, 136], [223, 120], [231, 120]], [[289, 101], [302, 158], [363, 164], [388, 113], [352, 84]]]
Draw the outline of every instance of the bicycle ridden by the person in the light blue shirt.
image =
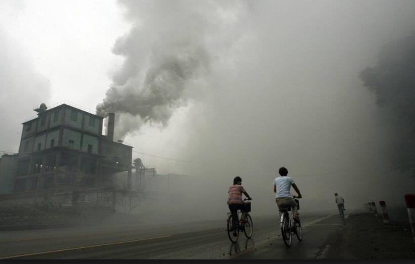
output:
[[[300, 203], [298, 201], [299, 198], [296, 196], [293, 197], [294, 201], [297, 203], [297, 208], [300, 209]], [[293, 215], [291, 212], [291, 206], [286, 205], [283, 206], [281, 210], [279, 210], [280, 214], [280, 227], [281, 227], [281, 236], [282, 240], [284, 241], [287, 247], [291, 246], [292, 242], [292, 234], [296, 234], [299, 241], [303, 240], [303, 229], [301, 227], [300, 217], [298, 217], [298, 221], [294, 221]]]

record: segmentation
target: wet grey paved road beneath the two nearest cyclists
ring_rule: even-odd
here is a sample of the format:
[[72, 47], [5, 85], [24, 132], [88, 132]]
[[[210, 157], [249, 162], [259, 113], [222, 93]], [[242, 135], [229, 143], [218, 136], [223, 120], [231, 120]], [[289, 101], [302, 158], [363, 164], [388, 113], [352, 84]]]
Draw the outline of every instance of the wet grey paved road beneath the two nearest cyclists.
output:
[[286, 248], [277, 217], [256, 217], [254, 235], [232, 244], [224, 219], [170, 225], [0, 232], [0, 259], [320, 258], [343, 229], [338, 215], [302, 214], [304, 240]]

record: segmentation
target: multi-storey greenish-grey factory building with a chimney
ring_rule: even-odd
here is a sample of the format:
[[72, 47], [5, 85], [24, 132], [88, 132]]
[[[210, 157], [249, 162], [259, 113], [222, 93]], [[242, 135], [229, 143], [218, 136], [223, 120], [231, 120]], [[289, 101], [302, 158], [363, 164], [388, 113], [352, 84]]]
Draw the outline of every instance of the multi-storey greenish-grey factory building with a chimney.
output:
[[121, 171], [131, 186], [133, 147], [113, 141], [113, 113], [104, 136], [101, 116], [67, 104], [35, 111], [37, 117], [23, 123], [14, 192], [111, 187]]

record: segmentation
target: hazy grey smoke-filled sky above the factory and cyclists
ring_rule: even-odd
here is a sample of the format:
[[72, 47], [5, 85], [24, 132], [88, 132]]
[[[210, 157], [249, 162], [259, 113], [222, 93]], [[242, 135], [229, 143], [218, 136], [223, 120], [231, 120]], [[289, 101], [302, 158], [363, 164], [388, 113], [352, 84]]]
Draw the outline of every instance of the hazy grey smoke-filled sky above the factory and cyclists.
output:
[[415, 30], [413, 10], [381, 0], [0, 0], [0, 150], [18, 149], [40, 103], [95, 111], [104, 100], [103, 111], [124, 113], [115, 140], [191, 161], [134, 152], [159, 173], [209, 177], [225, 193], [241, 175], [252, 196], [268, 197], [286, 166], [315, 199], [381, 197], [402, 186], [389, 180], [393, 127], [358, 75]]

